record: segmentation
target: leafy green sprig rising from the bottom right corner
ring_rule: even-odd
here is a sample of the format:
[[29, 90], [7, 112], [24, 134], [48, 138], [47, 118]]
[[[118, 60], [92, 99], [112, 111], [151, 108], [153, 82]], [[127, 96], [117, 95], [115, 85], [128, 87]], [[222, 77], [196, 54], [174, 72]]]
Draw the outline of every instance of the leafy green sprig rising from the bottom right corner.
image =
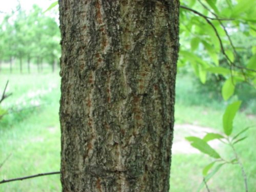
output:
[[[212, 158], [215, 158], [215, 161], [211, 162], [210, 164], [206, 165], [203, 168], [203, 182], [199, 186], [198, 191], [201, 190], [201, 188], [205, 185], [207, 190], [209, 191], [209, 188], [207, 186], [207, 181], [214, 176], [218, 170], [224, 165], [224, 164], [239, 164], [242, 175], [244, 178], [244, 184], [245, 184], [245, 190], [248, 192], [248, 184], [247, 184], [247, 176], [244, 170], [244, 167], [242, 165], [242, 162], [240, 161], [238, 154], [234, 148], [234, 144], [241, 142], [244, 140], [246, 137], [241, 137], [243, 133], [245, 133], [250, 127], [246, 127], [243, 129], [241, 132], [239, 132], [237, 135], [230, 137], [232, 130], [233, 130], [233, 119], [236, 116], [236, 113], [238, 112], [239, 108], [241, 105], [241, 101], [235, 101], [231, 104], [229, 104], [226, 108], [226, 111], [223, 115], [223, 131], [224, 134], [218, 134], [218, 133], [207, 133], [203, 139], [198, 138], [198, 137], [186, 137], [186, 140], [188, 140], [191, 144], [191, 146], [197, 148], [200, 152], [209, 155]], [[214, 148], [212, 148], [207, 142], [218, 139], [222, 141], [225, 144], [228, 144], [234, 154], [234, 159], [227, 161], [223, 159], [219, 153], [217, 153]], [[223, 141], [224, 140], [224, 141]], [[214, 170], [212, 170], [211, 173], [208, 174], [209, 170], [214, 166], [215, 163], [220, 163], [218, 164]]]

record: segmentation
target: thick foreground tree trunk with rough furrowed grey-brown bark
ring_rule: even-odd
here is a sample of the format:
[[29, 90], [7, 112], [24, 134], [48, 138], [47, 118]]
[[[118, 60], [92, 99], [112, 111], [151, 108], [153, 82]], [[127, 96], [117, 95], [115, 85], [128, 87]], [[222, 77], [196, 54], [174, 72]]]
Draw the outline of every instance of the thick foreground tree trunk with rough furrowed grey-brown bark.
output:
[[62, 191], [168, 191], [179, 1], [59, 1]]

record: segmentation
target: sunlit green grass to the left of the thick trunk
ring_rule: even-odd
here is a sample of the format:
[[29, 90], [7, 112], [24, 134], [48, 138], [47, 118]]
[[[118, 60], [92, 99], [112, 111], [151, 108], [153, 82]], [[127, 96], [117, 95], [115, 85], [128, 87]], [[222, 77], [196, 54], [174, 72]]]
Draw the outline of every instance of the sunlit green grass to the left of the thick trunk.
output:
[[[0, 180], [59, 170], [58, 75], [1, 74], [1, 88], [7, 79], [13, 95], [3, 104], [21, 99], [25, 105], [23, 102], [18, 102], [18, 105], [27, 110], [12, 113], [0, 123], [0, 162], [12, 154], [0, 169]], [[39, 108], [30, 106], [32, 99], [29, 95], [32, 93], [39, 93], [34, 94], [40, 104]], [[15, 104], [15, 108], [18, 108]], [[53, 175], [2, 184], [0, 191], [61, 191], [61, 187], [59, 175]]]

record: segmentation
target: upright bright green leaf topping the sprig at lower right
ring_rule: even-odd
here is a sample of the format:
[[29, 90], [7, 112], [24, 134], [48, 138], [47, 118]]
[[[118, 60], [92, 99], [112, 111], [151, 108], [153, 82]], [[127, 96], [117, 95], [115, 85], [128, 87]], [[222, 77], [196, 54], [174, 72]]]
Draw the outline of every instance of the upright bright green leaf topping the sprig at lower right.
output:
[[235, 101], [229, 104], [226, 108], [226, 111], [223, 115], [222, 123], [224, 133], [229, 136], [232, 133], [233, 129], [233, 119], [236, 116], [241, 105], [241, 101]]

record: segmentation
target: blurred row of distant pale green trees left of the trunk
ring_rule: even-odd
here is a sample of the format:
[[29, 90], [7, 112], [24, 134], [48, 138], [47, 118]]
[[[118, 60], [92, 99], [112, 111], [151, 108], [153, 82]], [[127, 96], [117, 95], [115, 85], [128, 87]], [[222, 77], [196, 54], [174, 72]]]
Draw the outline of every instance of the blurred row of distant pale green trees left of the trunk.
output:
[[[10, 73], [14, 63], [19, 72], [31, 72], [31, 64], [42, 72], [42, 64], [48, 63], [55, 71], [60, 57], [60, 33], [55, 19], [46, 16], [34, 5], [30, 12], [19, 9], [6, 15], [0, 23], [0, 72], [1, 64], [9, 63]], [[14, 62], [15, 61], [15, 62]]]

